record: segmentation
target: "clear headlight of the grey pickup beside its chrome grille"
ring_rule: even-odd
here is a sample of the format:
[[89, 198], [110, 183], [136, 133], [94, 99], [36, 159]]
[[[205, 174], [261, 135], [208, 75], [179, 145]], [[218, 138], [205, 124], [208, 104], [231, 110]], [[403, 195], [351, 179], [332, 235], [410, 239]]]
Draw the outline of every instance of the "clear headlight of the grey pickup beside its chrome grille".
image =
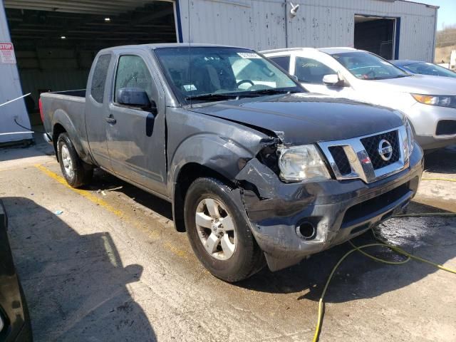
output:
[[279, 147], [279, 168], [282, 180], [328, 180], [331, 178], [323, 158], [314, 145]]

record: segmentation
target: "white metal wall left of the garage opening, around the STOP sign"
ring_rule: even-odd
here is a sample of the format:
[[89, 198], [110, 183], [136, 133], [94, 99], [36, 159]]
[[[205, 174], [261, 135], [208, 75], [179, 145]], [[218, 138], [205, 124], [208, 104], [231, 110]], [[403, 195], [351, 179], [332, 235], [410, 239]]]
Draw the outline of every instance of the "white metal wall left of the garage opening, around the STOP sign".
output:
[[[11, 43], [3, 0], [0, 0], [0, 43]], [[17, 65], [1, 63], [0, 59], [0, 104], [21, 95]], [[33, 138], [31, 133], [16, 125], [14, 119], [21, 125], [30, 127], [26, 105], [22, 99], [0, 107], [0, 143]]]

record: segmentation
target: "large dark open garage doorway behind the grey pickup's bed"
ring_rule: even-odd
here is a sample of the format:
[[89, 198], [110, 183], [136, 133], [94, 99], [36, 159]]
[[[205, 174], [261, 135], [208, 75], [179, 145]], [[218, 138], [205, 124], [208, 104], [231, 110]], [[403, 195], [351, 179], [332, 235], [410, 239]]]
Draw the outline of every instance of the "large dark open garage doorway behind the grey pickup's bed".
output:
[[[52, 8], [48, 4], [52, 2]], [[178, 41], [170, 1], [5, 0], [26, 106], [32, 125], [41, 124], [43, 91], [86, 88], [90, 66], [102, 48]]]

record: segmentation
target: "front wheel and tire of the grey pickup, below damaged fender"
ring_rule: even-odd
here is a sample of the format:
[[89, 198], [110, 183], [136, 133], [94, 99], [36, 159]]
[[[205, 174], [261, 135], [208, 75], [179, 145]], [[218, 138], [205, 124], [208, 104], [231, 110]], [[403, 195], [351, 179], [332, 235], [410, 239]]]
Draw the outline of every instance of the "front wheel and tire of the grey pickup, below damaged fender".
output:
[[247, 279], [265, 264], [231, 191], [220, 180], [199, 178], [190, 185], [184, 208], [193, 252], [211, 274], [229, 283]]

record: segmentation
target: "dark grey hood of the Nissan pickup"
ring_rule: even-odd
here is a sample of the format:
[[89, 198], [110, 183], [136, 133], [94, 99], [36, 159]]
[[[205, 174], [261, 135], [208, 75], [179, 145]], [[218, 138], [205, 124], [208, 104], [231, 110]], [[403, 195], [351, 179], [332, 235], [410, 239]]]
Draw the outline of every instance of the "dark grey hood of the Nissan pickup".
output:
[[286, 144], [342, 140], [396, 128], [387, 108], [308, 93], [194, 105], [193, 111], [273, 131]]

